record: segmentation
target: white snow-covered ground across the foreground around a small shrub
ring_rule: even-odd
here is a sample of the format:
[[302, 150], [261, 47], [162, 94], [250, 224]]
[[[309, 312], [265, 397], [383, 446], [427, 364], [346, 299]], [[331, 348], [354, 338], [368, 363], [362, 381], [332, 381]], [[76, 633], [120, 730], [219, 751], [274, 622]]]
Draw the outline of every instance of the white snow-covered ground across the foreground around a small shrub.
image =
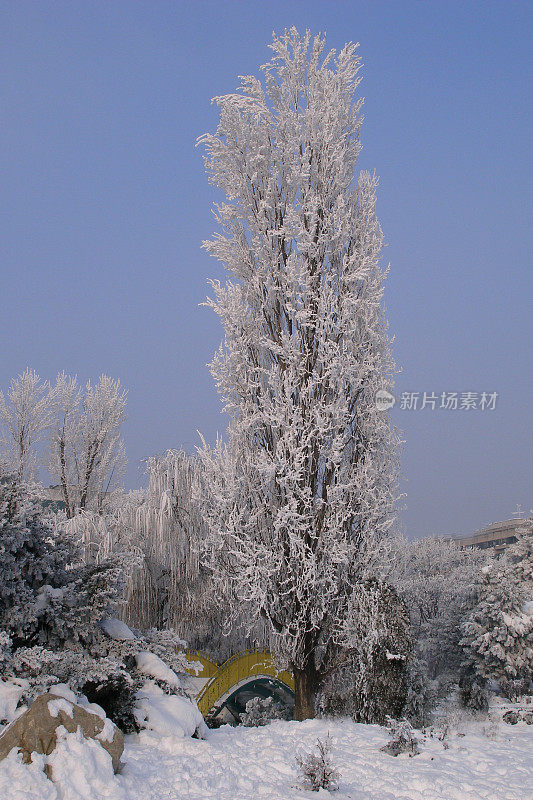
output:
[[[447, 747], [421, 742], [414, 758], [380, 752], [383, 728], [349, 720], [273, 722], [263, 728], [209, 731], [206, 740], [143, 731], [126, 737], [114, 776], [95, 742], [67, 736], [49, 757], [25, 766], [14, 752], [0, 764], [2, 800], [311, 800], [299, 788], [295, 757], [330, 733], [341, 778], [333, 800], [533, 800], [533, 726], [469, 722]], [[463, 734], [463, 735], [458, 735]]]

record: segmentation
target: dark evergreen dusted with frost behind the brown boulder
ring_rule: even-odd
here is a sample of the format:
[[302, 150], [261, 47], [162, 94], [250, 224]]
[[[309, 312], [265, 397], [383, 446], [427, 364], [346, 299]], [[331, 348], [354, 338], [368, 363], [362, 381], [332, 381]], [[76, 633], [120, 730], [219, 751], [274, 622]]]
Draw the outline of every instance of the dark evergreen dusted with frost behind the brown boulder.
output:
[[108, 702], [131, 729], [132, 698], [145, 680], [136, 655], [148, 650], [180, 671], [185, 657], [173, 632], [122, 625], [128, 635], [117, 637], [103, 624], [120, 613], [130, 562], [120, 553], [86, 563], [83, 548], [44, 518], [31, 487], [0, 472], [0, 677], [22, 681], [24, 699], [66, 683]]

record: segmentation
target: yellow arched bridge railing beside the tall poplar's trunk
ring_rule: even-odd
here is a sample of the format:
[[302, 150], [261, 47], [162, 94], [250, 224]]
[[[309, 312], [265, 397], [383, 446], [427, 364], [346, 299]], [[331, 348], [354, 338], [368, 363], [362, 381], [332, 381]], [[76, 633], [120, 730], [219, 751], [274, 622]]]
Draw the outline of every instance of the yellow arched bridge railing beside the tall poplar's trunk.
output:
[[[213, 669], [214, 661], [203, 653], [187, 653], [191, 661], [208, 662], [207, 669]], [[215, 665], [216, 666], [216, 665]], [[205, 668], [205, 667], [204, 667]], [[191, 671], [191, 674], [194, 674]], [[203, 672], [202, 675], [207, 676]], [[196, 702], [204, 717], [211, 710], [230, 697], [240, 686], [244, 686], [257, 678], [275, 678], [288, 689], [294, 691], [294, 678], [286, 670], [278, 670], [268, 650], [244, 650], [228, 658], [209, 676], [209, 680], [200, 691]]]

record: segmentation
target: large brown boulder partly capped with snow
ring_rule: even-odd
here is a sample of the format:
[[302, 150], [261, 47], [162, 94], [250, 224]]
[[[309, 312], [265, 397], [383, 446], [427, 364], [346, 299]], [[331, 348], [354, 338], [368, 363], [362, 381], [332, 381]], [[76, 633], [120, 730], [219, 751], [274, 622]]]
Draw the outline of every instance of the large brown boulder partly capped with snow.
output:
[[84, 708], [58, 695], [40, 695], [0, 735], [0, 761], [14, 747], [22, 752], [26, 763], [31, 761], [33, 752], [50, 755], [57, 744], [57, 728], [62, 725], [68, 733], [76, 733], [80, 728], [86, 739], [96, 739], [111, 756], [117, 772], [124, 737], [111, 720], [100, 715], [101, 710], [98, 714], [90, 709], [90, 706]]

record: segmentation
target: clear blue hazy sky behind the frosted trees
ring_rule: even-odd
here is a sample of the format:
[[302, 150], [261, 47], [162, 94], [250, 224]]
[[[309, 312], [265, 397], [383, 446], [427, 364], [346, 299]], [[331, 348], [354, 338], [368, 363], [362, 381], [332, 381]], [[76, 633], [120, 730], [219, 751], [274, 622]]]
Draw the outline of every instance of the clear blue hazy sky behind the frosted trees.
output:
[[[381, 176], [401, 392], [495, 410], [393, 411], [410, 536], [533, 505], [529, 2], [0, 2], [0, 386], [27, 365], [129, 390], [141, 459], [225, 427], [205, 364], [221, 277], [195, 140], [272, 30], [361, 43], [360, 163]], [[440, 400], [439, 400], [440, 402]], [[437, 404], [438, 405], [438, 404]]]

